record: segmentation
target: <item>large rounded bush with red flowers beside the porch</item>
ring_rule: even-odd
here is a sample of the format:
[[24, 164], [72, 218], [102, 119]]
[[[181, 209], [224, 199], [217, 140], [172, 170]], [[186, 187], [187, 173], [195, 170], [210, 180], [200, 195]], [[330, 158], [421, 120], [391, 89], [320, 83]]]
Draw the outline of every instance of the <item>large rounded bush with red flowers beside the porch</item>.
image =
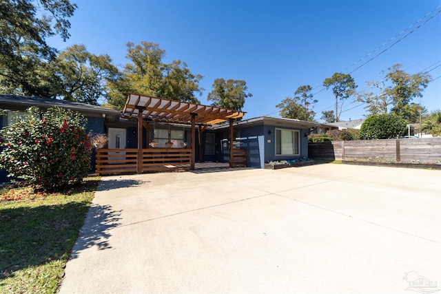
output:
[[0, 167], [34, 189], [54, 191], [81, 182], [90, 169], [86, 118], [69, 109], [30, 107], [0, 132]]

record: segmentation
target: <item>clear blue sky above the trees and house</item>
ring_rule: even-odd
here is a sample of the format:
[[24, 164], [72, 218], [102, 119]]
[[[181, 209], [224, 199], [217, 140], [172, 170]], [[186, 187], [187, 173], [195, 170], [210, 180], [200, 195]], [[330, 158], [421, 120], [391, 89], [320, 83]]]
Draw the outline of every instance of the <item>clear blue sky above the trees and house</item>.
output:
[[[198, 96], [202, 104], [209, 104], [206, 97], [216, 78], [245, 80], [253, 94], [243, 108], [248, 118], [278, 116], [280, 101], [294, 96], [301, 85], [311, 85], [320, 120], [322, 111], [334, 109], [331, 90], [322, 87], [325, 78], [356, 70], [397, 41], [351, 73], [358, 90], [367, 87], [366, 81], [382, 80], [380, 72], [401, 63], [409, 74], [431, 70], [434, 81], [414, 102], [441, 109], [441, 0], [75, 3], [71, 37], [67, 42], [51, 39], [54, 47], [63, 50], [81, 43], [94, 54], [109, 54], [123, 67], [127, 41], [158, 43], [166, 52], [165, 62], [181, 59], [191, 72], [204, 76], [200, 85], [205, 91]], [[349, 98], [340, 120], [365, 114], [363, 105]]]

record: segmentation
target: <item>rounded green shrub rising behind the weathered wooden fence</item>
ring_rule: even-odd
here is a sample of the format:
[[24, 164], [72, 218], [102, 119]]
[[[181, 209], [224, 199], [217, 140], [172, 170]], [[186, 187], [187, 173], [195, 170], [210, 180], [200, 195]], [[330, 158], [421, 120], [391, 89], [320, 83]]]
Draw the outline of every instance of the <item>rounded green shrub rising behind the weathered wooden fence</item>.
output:
[[369, 116], [360, 128], [360, 136], [364, 140], [398, 138], [406, 132], [406, 120], [396, 114]]

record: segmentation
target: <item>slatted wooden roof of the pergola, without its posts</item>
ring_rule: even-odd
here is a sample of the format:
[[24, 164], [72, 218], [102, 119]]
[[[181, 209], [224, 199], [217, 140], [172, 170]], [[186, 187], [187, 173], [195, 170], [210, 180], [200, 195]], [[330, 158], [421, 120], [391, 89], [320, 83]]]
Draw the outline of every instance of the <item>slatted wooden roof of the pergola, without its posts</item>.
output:
[[141, 94], [128, 94], [123, 109], [123, 118], [137, 119], [140, 112], [143, 118], [183, 124], [191, 123], [192, 116], [195, 116], [195, 123], [203, 125], [223, 123], [225, 120], [241, 118], [245, 114], [245, 112], [222, 107], [174, 101]]

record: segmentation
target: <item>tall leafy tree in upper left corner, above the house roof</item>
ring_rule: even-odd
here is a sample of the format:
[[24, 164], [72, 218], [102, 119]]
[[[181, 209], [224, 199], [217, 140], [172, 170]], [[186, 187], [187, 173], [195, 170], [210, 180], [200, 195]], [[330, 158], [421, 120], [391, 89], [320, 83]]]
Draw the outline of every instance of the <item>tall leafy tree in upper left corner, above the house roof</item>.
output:
[[59, 79], [48, 63], [57, 50], [49, 36], [69, 38], [69, 17], [76, 4], [69, 0], [0, 1], [0, 87], [15, 94], [54, 96]]

